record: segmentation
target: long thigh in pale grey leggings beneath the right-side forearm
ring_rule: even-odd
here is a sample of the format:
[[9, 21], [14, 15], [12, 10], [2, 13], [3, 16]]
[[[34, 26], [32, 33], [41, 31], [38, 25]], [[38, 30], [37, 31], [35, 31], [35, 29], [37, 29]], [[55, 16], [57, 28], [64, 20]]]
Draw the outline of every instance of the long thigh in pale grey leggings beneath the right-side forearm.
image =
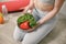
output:
[[23, 44], [37, 44], [43, 37], [45, 37], [55, 26], [56, 22], [50, 22], [40, 26], [36, 31], [26, 33], [23, 38]]

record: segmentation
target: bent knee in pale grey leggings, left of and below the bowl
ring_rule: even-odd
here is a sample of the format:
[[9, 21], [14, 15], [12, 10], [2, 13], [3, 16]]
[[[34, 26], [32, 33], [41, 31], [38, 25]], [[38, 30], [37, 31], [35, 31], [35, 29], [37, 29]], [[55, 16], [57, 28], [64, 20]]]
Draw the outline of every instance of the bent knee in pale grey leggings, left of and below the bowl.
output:
[[14, 32], [13, 32], [13, 38], [15, 41], [21, 41], [24, 37], [24, 35], [25, 35], [25, 32], [20, 30], [16, 25], [15, 29], [14, 29]]

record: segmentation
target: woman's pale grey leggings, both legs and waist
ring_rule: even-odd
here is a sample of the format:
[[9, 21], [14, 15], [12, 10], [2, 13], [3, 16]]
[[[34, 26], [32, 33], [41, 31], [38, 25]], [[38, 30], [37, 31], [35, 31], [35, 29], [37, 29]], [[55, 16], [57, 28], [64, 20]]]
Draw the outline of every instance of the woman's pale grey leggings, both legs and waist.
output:
[[[42, 13], [38, 10], [37, 11], [33, 10], [33, 15], [36, 19], [36, 21], [38, 21], [46, 14], [47, 14], [46, 12]], [[37, 28], [36, 31], [33, 31], [31, 33], [23, 32], [16, 25], [14, 33], [13, 33], [13, 37], [16, 41], [23, 40], [22, 44], [37, 44], [41, 40], [43, 40], [53, 30], [53, 28], [56, 24], [56, 21], [57, 21], [57, 18], [54, 16], [53, 19], [51, 19], [50, 21], [47, 21], [46, 23], [44, 23], [40, 28]]]

